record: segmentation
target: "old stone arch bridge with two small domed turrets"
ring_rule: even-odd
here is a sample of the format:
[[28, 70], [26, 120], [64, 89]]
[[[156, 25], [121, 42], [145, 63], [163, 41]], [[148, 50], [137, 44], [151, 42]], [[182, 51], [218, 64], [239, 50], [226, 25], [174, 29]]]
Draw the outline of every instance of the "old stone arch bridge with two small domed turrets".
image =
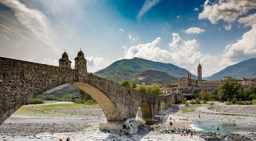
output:
[[88, 74], [82, 51], [75, 57], [75, 69], [71, 69], [66, 52], [59, 67], [0, 57], [0, 125], [29, 100], [63, 84], [71, 84], [92, 96], [109, 123], [135, 120], [139, 107], [143, 119], [152, 119], [159, 110], [182, 99], [181, 94], [150, 95]]

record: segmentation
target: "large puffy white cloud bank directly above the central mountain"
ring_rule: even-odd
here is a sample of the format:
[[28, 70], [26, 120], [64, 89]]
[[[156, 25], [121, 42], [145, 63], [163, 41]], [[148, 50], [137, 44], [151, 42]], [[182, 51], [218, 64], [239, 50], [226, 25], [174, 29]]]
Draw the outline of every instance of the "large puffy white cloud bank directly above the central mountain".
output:
[[[203, 53], [198, 51], [200, 44], [197, 40], [181, 40], [177, 33], [173, 33], [173, 40], [169, 43], [170, 51], [157, 47], [160, 41], [161, 38], [157, 37], [153, 42], [127, 48], [124, 58], [132, 59], [139, 57], [153, 61], [173, 63], [179, 67], [188, 69], [192, 73], [196, 73], [198, 62], [207, 65], [214, 58], [209, 54], [203, 55]], [[209, 75], [210, 73], [210, 71], [206, 72], [205, 75]]]

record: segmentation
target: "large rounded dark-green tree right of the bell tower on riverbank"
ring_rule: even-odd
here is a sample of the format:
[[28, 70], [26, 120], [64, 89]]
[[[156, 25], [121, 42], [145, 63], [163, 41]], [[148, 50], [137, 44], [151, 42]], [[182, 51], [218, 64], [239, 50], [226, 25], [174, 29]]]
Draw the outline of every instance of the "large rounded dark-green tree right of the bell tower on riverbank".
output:
[[237, 83], [238, 79], [228, 78], [225, 79], [220, 86], [218, 87], [218, 96], [220, 100], [227, 99], [228, 102], [239, 94], [239, 89], [241, 89], [241, 85]]

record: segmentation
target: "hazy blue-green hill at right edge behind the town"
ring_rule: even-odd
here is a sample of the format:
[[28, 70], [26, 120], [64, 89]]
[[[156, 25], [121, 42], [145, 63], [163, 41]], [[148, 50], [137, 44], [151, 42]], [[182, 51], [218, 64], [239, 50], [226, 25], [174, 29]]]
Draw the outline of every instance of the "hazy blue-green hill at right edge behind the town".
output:
[[219, 71], [207, 77], [206, 80], [221, 80], [225, 76], [230, 76], [237, 79], [245, 78], [255, 78], [256, 77], [256, 58], [245, 60], [228, 66], [223, 70]]

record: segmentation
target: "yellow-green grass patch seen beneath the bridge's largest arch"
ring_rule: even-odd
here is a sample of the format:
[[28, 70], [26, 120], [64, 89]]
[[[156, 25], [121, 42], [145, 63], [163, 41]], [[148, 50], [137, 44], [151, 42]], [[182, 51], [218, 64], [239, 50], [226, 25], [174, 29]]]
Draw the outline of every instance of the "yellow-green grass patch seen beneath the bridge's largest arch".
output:
[[[65, 107], [65, 108], [59, 108]], [[67, 116], [69, 112], [61, 112], [63, 109], [70, 109], [72, 107], [99, 107], [98, 104], [95, 105], [84, 105], [84, 104], [50, 104], [50, 105], [38, 105], [38, 106], [26, 106], [19, 108], [15, 113], [18, 114], [38, 114], [46, 116]], [[59, 112], [59, 113], [58, 113]]]

